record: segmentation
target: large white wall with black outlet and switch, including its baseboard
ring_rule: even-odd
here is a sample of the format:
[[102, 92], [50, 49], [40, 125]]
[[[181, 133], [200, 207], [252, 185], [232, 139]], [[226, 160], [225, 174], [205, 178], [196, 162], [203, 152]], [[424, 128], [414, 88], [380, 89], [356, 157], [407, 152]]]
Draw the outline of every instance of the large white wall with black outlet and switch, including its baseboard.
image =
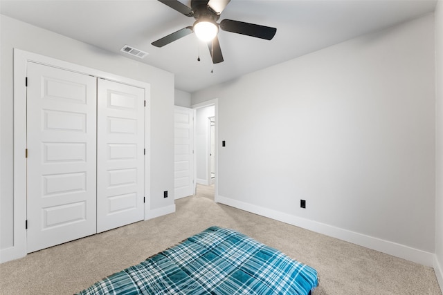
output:
[[219, 98], [218, 200], [432, 265], [433, 42], [426, 15], [192, 93]]

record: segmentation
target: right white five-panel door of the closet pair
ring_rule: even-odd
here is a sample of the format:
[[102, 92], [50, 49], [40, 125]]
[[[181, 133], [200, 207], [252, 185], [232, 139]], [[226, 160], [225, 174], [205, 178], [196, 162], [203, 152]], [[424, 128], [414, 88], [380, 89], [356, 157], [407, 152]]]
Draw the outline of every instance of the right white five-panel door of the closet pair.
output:
[[145, 90], [98, 79], [97, 231], [144, 218]]

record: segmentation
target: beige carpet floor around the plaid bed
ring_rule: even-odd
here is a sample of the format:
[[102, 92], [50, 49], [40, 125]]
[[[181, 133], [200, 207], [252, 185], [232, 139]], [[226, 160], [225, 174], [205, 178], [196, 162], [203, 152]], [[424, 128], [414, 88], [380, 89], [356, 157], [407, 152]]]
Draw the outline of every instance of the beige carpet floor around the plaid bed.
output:
[[213, 187], [177, 212], [0, 265], [0, 294], [73, 294], [211, 225], [229, 227], [314, 267], [320, 294], [442, 294], [432, 268], [216, 204]]

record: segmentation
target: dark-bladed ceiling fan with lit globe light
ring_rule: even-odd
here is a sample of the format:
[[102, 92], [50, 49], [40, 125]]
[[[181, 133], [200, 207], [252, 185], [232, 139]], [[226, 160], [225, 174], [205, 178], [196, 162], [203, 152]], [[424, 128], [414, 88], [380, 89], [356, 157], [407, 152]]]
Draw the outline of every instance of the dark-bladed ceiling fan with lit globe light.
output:
[[277, 32], [276, 28], [260, 26], [254, 23], [244, 23], [243, 21], [233, 21], [231, 19], [223, 19], [220, 23], [217, 23], [216, 21], [219, 19], [221, 12], [226, 8], [230, 0], [191, 0], [190, 8], [177, 0], [159, 1], [187, 17], [194, 17], [196, 21], [192, 26], [182, 28], [152, 42], [152, 45], [163, 47], [195, 32], [199, 39], [208, 42], [208, 48], [214, 64], [223, 61], [219, 39], [217, 38], [219, 28], [226, 32], [236, 32], [237, 34], [266, 40], [271, 40], [275, 32]]

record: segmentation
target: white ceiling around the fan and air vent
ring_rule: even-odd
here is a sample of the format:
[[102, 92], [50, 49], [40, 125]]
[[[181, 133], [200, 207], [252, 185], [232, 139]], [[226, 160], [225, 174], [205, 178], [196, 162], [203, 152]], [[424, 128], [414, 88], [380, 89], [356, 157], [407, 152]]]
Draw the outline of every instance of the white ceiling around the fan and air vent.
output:
[[[190, 6], [190, 1], [181, 0]], [[435, 8], [428, 0], [232, 0], [221, 19], [277, 28], [271, 41], [219, 32], [224, 62], [212, 66], [206, 44], [188, 35], [151, 45], [195, 19], [156, 0], [1, 0], [0, 12], [35, 26], [92, 44], [175, 74], [175, 87], [192, 93], [352, 37], [419, 17]], [[149, 53], [144, 59], [121, 53], [125, 46]], [[199, 53], [200, 52], [200, 53]], [[200, 54], [201, 61], [197, 61]], [[210, 71], [213, 68], [214, 73]]]

